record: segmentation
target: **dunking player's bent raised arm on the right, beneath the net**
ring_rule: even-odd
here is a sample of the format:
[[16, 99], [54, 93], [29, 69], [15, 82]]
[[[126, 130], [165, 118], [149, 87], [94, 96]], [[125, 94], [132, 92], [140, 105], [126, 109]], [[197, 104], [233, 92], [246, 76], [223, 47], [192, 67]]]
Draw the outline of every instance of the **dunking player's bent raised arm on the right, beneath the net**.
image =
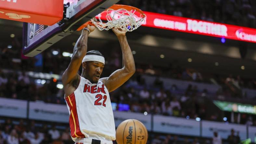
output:
[[122, 69], [118, 69], [113, 72], [109, 77], [100, 79], [105, 84], [109, 92], [120, 87], [135, 73], [133, 54], [127, 42], [125, 33], [121, 33], [117, 29], [112, 30], [120, 42], [124, 66]]

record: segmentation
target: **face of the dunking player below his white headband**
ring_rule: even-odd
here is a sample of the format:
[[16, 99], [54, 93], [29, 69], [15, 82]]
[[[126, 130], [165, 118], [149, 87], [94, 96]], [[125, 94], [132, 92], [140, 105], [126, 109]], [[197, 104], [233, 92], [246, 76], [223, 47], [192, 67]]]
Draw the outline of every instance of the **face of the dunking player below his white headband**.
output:
[[88, 80], [90, 80], [92, 83], [97, 83], [100, 75], [103, 71], [104, 64], [101, 62], [96, 61], [90, 61], [86, 63], [86, 77]]

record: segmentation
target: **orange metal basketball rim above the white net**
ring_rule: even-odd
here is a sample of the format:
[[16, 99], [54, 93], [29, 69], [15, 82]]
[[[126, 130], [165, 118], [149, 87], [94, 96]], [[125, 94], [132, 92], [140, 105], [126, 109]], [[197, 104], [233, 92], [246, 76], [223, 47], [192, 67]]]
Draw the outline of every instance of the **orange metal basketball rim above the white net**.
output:
[[[107, 11], [108, 9], [118, 10], [118, 9], [121, 9], [121, 8], [126, 9], [126, 10], [128, 10], [128, 11], [130, 11], [130, 10], [136, 10], [136, 11], [139, 12], [140, 14], [142, 14], [142, 15], [144, 14], [144, 12], [143, 12], [141, 9], [139, 9], [139, 8], [137, 8], [137, 7], [134, 7], [134, 6], [127, 6], [127, 5], [113, 5], [113, 6], [110, 6], [109, 8], [107, 8], [107, 9], [104, 10], [104, 11]], [[104, 12], [104, 11], [103, 11], [103, 12]], [[144, 17], [145, 17], [145, 16], [144, 16]], [[94, 26], [94, 24], [93, 24], [91, 21], [88, 21], [88, 22], [86, 22], [85, 24], [83, 24], [81, 27], [79, 27], [79, 28], [77, 29], [77, 31], [82, 30], [82, 29], [85, 28], [88, 24]]]

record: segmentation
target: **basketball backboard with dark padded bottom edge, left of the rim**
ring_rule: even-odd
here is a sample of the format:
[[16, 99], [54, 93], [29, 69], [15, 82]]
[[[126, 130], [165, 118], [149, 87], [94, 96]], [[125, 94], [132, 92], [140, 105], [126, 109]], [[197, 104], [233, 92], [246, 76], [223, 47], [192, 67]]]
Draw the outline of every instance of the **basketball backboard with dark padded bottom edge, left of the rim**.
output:
[[72, 34], [119, 0], [64, 0], [63, 18], [52, 26], [23, 23], [23, 54], [33, 57]]

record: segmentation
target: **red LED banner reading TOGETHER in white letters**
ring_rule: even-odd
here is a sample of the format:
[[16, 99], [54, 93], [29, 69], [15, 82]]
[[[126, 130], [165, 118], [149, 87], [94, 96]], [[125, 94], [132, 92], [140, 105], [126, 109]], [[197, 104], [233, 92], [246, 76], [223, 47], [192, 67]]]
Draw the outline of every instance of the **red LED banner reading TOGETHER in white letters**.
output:
[[[256, 43], [256, 29], [159, 13], [144, 13], [147, 19], [142, 26]], [[100, 18], [106, 20], [106, 13]]]

